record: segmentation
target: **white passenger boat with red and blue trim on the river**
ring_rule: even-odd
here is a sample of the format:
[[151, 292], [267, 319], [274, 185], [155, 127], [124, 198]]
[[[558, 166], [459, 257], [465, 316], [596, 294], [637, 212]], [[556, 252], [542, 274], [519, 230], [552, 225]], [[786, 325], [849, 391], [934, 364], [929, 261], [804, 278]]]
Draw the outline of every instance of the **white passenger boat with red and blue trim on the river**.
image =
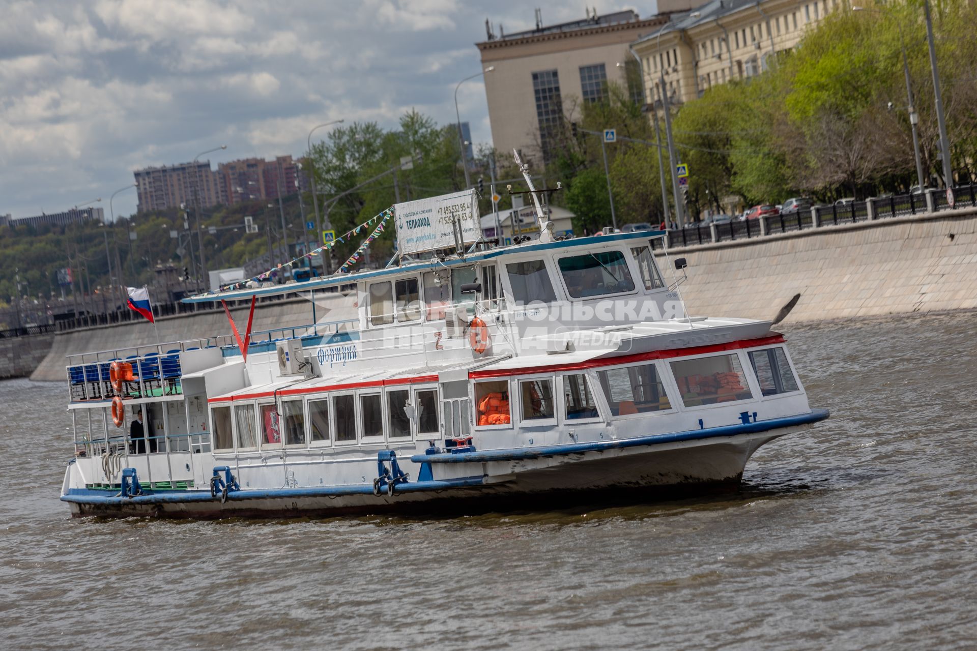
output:
[[344, 288], [353, 321], [72, 356], [61, 499], [207, 517], [682, 494], [735, 487], [761, 445], [828, 418], [770, 321], [686, 313], [661, 232], [557, 240], [536, 209], [517, 245], [469, 246], [461, 211], [458, 246], [189, 299]]

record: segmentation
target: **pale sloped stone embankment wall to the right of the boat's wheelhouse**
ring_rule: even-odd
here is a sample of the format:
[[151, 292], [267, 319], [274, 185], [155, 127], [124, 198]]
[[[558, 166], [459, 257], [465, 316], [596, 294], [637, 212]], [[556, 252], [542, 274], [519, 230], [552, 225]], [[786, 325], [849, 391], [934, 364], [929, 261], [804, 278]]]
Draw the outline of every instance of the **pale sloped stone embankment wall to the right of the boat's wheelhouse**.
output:
[[[666, 282], [676, 258], [692, 315], [787, 322], [977, 307], [977, 209], [832, 225], [658, 252]], [[677, 278], [682, 271], [674, 271]]]

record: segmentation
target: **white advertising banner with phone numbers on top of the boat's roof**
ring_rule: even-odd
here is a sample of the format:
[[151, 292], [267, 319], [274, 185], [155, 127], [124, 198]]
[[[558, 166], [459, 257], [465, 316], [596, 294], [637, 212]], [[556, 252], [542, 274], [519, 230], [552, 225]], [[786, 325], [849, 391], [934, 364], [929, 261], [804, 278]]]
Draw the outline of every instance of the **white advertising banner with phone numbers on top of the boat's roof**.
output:
[[455, 244], [452, 224], [461, 225], [463, 244], [482, 236], [479, 202], [475, 189], [394, 205], [397, 250], [404, 254], [446, 249]]

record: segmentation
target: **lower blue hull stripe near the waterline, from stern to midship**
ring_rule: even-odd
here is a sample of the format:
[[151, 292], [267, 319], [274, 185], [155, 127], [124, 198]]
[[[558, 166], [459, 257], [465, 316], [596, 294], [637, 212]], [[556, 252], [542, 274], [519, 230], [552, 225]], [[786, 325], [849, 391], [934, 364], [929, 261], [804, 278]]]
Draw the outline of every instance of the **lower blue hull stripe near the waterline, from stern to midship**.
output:
[[[397, 486], [398, 493], [415, 493], [424, 491], [441, 491], [449, 488], [465, 488], [467, 486], [481, 486], [483, 478], [463, 477], [460, 479], [446, 479], [440, 481], [411, 481]], [[386, 496], [386, 489], [381, 496]], [[350, 495], [373, 495], [372, 484], [351, 484], [349, 486], [313, 486], [310, 488], [271, 488], [260, 490], [242, 489], [228, 493], [228, 501], [235, 500], [275, 500], [281, 498], [317, 498], [343, 497]], [[219, 502], [219, 498], [210, 496], [210, 491], [155, 491], [132, 498], [106, 495], [104, 490], [90, 490], [87, 488], [72, 488], [67, 495], [61, 496], [62, 502], [90, 505], [147, 505], [147, 504], [176, 504], [187, 502]]]

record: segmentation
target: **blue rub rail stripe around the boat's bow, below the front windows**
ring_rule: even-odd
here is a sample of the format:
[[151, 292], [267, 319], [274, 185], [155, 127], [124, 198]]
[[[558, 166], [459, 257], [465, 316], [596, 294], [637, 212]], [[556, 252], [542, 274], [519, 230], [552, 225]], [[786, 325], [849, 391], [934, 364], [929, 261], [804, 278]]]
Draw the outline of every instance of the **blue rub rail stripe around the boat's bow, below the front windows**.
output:
[[580, 452], [603, 452], [604, 450], [615, 450], [620, 448], [633, 448], [641, 445], [658, 445], [658, 443], [673, 443], [675, 441], [692, 441], [701, 438], [714, 438], [717, 436], [737, 436], [739, 434], [751, 434], [758, 431], [769, 431], [782, 427], [795, 427], [817, 423], [828, 418], [827, 409], [815, 409], [808, 414], [799, 416], [786, 416], [785, 418], [775, 418], [769, 421], [757, 421], [756, 423], [727, 425], [723, 427], [707, 427], [705, 429], [692, 429], [689, 431], [677, 431], [671, 434], [651, 434], [648, 436], [637, 436], [635, 438], [624, 438], [615, 441], [595, 441], [592, 443], [566, 443], [561, 445], [545, 445], [533, 448], [506, 448], [502, 450], [485, 450], [461, 454], [433, 454], [414, 455], [410, 461], [416, 464], [481, 464], [490, 461], [519, 461], [521, 459], [539, 459], [540, 457], [554, 457], [557, 455], [578, 454]]

